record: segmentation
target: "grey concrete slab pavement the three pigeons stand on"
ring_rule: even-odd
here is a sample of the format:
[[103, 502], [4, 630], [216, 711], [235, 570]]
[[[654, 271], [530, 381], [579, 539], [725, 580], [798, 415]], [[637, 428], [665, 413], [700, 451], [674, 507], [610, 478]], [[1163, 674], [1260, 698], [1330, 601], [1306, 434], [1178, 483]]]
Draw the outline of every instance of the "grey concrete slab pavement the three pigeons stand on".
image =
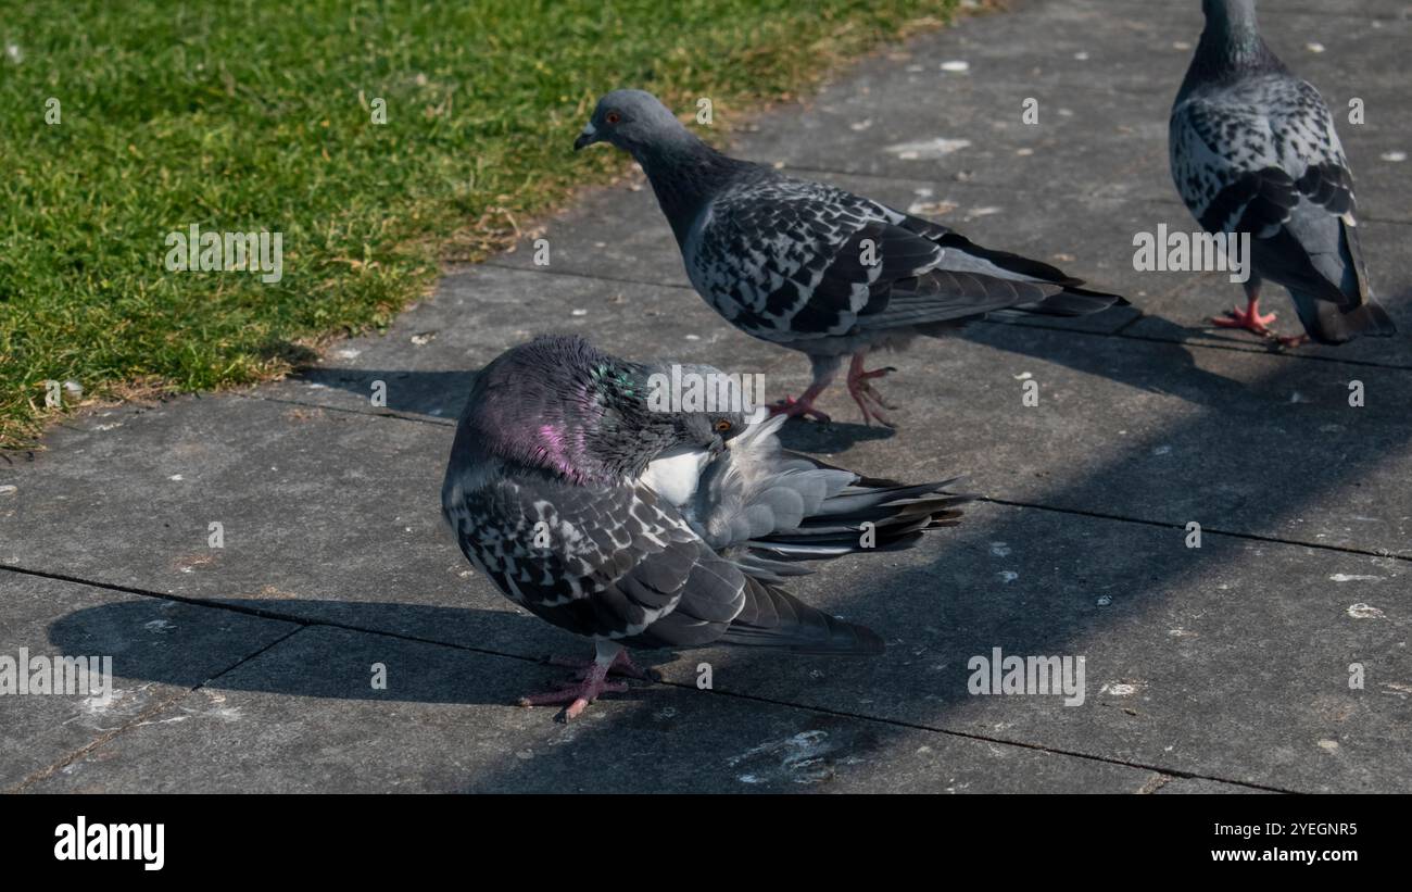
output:
[[[964, 473], [987, 500], [922, 548], [794, 586], [878, 631], [884, 656], [664, 652], [647, 655], [664, 683], [573, 724], [508, 706], [559, 677], [538, 656], [583, 644], [500, 597], [441, 529], [473, 371], [569, 330], [764, 371], [774, 395], [808, 380], [689, 289], [635, 178], [548, 224], [548, 267], [527, 241], [292, 380], [83, 415], [0, 459], [0, 655], [107, 653], [117, 676], [109, 701], [0, 697], [0, 789], [1412, 790], [1412, 186], [1394, 159], [1412, 151], [1412, 21], [1392, 0], [1261, 16], [1330, 106], [1365, 100], [1367, 123], [1340, 130], [1396, 339], [1274, 353], [1202, 326], [1240, 296], [1221, 275], [1132, 268], [1134, 233], [1193, 229], [1165, 140], [1195, 1], [1014, 3], [737, 133], [738, 155], [1135, 305], [888, 357], [895, 435], [857, 423], [842, 387], [822, 404], [833, 425], [791, 422], [794, 447]], [[969, 145], [905, 148], [935, 140]], [[967, 662], [997, 646], [1084, 656], [1084, 703], [973, 696]]]

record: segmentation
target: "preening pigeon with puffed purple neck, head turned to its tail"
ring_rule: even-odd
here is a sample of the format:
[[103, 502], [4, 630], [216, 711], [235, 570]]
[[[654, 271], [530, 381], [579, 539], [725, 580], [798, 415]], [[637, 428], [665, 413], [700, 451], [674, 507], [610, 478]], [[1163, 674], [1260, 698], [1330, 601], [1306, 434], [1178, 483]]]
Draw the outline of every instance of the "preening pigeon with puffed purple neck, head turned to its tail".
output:
[[907, 486], [788, 452], [777, 438], [785, 416], [767, 421], [764, 406], [654, 402], [662, 371], [582, 337], [542, 336], [472, 384], [443, 517], [505, 597], [596, 652], [551, 658], [580, 672], [522, 706], [565, 704], [568, 720], [626, 690], [609, 676], [647, 677], [626, 648], [878, 653], [877, 634], [809, 607], [784, 581], [808, 574], [808, 562], [911, 548], [955, 525], [967, 501], [946, 491], [955, 478]]

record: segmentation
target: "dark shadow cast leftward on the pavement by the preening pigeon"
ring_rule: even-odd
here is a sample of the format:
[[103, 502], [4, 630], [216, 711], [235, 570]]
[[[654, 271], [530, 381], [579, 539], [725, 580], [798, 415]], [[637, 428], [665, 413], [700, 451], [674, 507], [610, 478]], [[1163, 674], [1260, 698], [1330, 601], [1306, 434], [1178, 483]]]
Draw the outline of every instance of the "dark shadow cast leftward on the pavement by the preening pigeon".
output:
[[[212, 653], [256, 648], [247, 622], [213, 622], [212, 611], [299, 622], [304, 629], [281, 644], [271, 658], [244, 662], [212, 679]], [[311, 622], [309, 617], [337, 621]], [[531, 652], [520, 656], [522, 663], [505, 661], [503, 649], [490, 658], [460, 644], [484, 641], [487, 624], [494, 625], [497, 638], [513, 638], [521, 645], [532, 642]], [[323, 634], [309, 635], [311, 629]], [[387, 629], [411, 631], [390, 635]], [[555, 682], [570, 675], [570, 669], [545, 663], [551, 653], [589, 656], [582, 641], [545, 635], [546, 631], [554, 629], [527, 614], [473, 607], [304, 598], [181, 604], [137, 598], [75, 610], [55, 620], [48, 637], [61, 653], [112, 655], [119, 677], [176, 687], [325, 700], [508, 706], [524, 694], [552, 690]], [[655, 665], [675, 658], [668, 651], [651, 656], [638, 662]], [[370, 683], [370, 669], [378, 665], [393, 683], [383, 687]], [[542, 665], [538, 680], [535, 665]], [[633, 699], [641, 690], [634, 685], [618, 696]]]

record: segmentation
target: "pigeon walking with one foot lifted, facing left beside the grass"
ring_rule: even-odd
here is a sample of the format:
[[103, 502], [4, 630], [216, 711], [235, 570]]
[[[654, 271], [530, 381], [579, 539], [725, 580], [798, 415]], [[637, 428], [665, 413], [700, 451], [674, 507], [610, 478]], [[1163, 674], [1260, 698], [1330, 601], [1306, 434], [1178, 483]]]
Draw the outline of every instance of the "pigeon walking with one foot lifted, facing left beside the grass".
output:
[[794, 179], [702, 143], [651, 93], [603, 96], [575, 150], [610, 143], [641, 165], [696, 291], [741, 332], [809, 357], [813, 381], [785, 415], [827, 421], [815, 399], [844, 357], [863, 421], [891, 425], [866, 371], [877, 349], [942, 336], [998, 311], [1082, 316], [1117, 295], [980, 247], [939, 223], [834, 186]]

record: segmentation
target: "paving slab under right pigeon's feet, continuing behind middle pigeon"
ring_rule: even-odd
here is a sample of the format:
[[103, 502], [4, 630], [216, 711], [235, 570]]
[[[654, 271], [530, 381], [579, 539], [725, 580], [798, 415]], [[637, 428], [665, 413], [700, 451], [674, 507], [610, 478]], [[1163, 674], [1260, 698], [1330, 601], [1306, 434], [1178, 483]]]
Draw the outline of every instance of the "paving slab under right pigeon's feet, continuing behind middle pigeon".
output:
[[[868, 195], [895, 207], [926, 210], [923, 216], [953, 226], [979, 244], [1058, 264], [1096, 288], [1125, 295], [1134, 305], [1079, 319], [1029, 316], [1018, 319], [1019, 323], [1238, 350], [1274, 349], [1268, 342], [1254, 336], [1210, 325], [1211, 316], [1220, 315], [1237, 302], [1244, 305], [1241, 287], [1230, 281], [1230, 274], [1135, 268], [1134, 244], [1139, 233], [1156, 239], [1163, 231], [1196, 230], [1186, 207], [1175, 196], [1069, 198], [1053, 192], [997, 196], [994, 191], [976, 183], [849, 174], [818, 174], [812, 178]], [[651, 224], [644, 226], [644, 220]], [[1412, 368], [1412, 271], [1409, 264], [1401, 263], [1412, 246], [1412, 224], [1365, 222], [1360, 231], [1364, 251], [1370, 258], [1374, 292], [1392, 315], [1399, 334], [1365, 337], [1343, 346], [1306, 344], [1299, 347], [1298, 353]], [[549, 244], [546, 265], [535, 264], [532, 243], [541, 237]], [[671, 230], [661, 220], [650, 189], [594, 193], [580, 206], [559, 215], [545, 231], [527, 237], [515, 251], [493, 260], [489, 265], [609, 279], [620, 285], [652, 284], [681, 291], [678, 299], [683, 303], [675, 309], [668, 305], [661, 308], [661, 312], [695, 309], [685, 306], [693, 301], [705, 305], [686, 281], [681, 253]], [[1288, 292], [1278, 285], [1269, 285], [1265, 296], [1267, 305], [1282, 316], [1276, 329], [1291, 334], [1298, 333], [1299, 319]], [[606, 299], [618, 301], [618, 295], [614, 292]], [[607, 308], [572, 303], [568, 319], [559, 306], [545, 323], [562, 322], [580, 326], [587, 322], [585, 316], [594, 313], [596, 309], [631, 312], [630, 306], [621, 303], [610, 302]], [[582, 315], [572, 316], [575, 312]], [[693, 313], [692, 318], [698, 316]], [[720, 327], [719, 316], [714, 313], [700, 319], [702, 325], [713, 322], [712, 327]], [[525, 330], [522, 325], [520, 329]]]

